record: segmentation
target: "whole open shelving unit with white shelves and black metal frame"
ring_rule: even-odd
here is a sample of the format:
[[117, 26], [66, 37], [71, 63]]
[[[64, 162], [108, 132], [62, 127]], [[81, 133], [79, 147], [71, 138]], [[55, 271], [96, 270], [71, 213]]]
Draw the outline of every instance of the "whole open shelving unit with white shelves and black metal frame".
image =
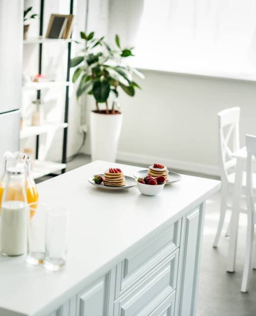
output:
[[[33, 90], [36, 92], [37, 99], [41, 99], [41, 90], [45, 89], [56, 89], [59, 87], [65, 88], [65, 103], [64, 103], [64, 122], [63, 123], [44, 123], [43, 126], [24, 126], [24, 128], [20, 131], [20, 139], [29, 139], [30, 137], [35, 136], [35, 158], [34, 165], [32, 168], [32, 176], [34, 179], [42, 177], [47, 174], [56, 175], [56, 171], [65, 172], [66, 167], [66, 151], [67, 151], [67, 126], [68, 126], [68, 103], [69, 103], [69, 70], [70, 70], [70, 55], [71, 55], [71, 44], [72, 38], [64, 39], [64, 38], [45, 38], [43, 36], [43, 12], [44, 12], [44, 1], [41, 0], [40, 5], [40, 23], [39, 23], [39, 35], [36, 37], [30, 37], [28, 39], [23, 40], [24, 47], [27, 45], [32, 45], [31, 48], [35, 48], [38, 45], [38, 73], [42, 73], [42, 58], [43, 58], [43, 45], [46, 44], [58, 44], [60, 43], [60, 48], [67, 48], [67, 68], [66, 75], [63, 78], [63, 81], [50, 81], [50, 82], [28, 82], [22, 86], [23, 93], [27, 91]], [[69, 14], [73, 14], [73, 0], [70, 0], [69, 5]], [[66, 45], [65, 45], [66, 44]], [[29, 48], [29, 51], [30, 49]], [[29, 56], [28, 56], [29, 57]], [[66, 80], [66, 81], [64, 81]], [[57, 129], [63, 128], [64, 136], [63, 136], [63, 150], [62, 150], [62, 163], [38, 160], [38, 152], [39, 152], [39, 135], [46, 134], [50, 132], [54, 132]]]

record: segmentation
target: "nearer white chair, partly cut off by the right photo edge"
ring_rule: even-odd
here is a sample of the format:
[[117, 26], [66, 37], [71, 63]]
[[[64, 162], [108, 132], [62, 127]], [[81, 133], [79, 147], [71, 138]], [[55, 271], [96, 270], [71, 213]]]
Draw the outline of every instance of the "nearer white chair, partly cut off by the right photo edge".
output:
[[[254, 245], [254, 225], [256, 224], [256, 195], [254, 195], [253, 186], [253, 168], [252, 168], [252, 158], [256, 158], [256, 136], [246, 135], [246, 147], [247, 147], [247, 161], [246, 161], [246, 200], [247, 200], [247, 238], [246, 238], [246, 252], [245, 252], [245, 262], [244, 262], [244, 272], [241, 285], [241, 291], [248, 291], [248, 284], [250, 275], [252, 272], [253, 264], [253, 245]], [[255, 243], [256, 246], [256, 243]], [[256, 257], [256, 251], [255, 255]], [[255, 259], [255, 258], [254, 258]], [[255, 262], [254, 262], [254, 268]]]

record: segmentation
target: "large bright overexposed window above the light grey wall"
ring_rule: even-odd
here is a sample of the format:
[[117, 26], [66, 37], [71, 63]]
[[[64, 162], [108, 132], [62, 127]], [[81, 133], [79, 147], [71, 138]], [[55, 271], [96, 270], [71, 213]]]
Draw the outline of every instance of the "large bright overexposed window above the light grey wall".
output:
[[139, 67], [254, 73], [256, 1], [144, 0], [132, 44]]

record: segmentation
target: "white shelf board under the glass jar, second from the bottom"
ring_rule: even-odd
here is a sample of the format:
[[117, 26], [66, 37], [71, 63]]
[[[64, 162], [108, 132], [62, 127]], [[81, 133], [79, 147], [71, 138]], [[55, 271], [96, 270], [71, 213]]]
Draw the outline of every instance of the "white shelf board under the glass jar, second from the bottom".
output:
[[20, 131], [20, 139], [45, 134], [67, 126], [67, 123], [44, 123], [42, 126], [24, 126]]

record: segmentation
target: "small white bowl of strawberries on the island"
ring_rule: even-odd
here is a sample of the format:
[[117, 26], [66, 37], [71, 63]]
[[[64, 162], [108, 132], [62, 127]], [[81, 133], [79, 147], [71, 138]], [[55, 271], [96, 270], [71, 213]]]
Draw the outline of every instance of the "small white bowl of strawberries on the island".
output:
[[140, 193], [145, 195], [157, 195], [165, 185], [165, 177], [152, 177], [148, 175], [145, 178], [137, 178], [136, 182]]

